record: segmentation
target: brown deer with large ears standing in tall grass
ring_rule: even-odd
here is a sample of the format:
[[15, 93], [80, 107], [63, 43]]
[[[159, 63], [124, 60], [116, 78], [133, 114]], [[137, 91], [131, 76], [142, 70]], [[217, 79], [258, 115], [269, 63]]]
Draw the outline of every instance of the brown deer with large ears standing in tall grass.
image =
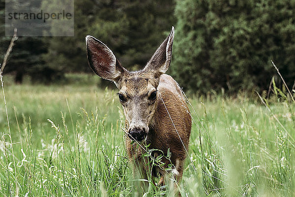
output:
[[[192, 124], [182, 90], [173, 77], [165, 74], [171, 63], [174, 32], [172, 27], [146, 66], [138, 71], [128, 71], [104, 43], [86, 36], [90, 68], [114, 82], [119, 90], [125, 117], [125, 149], [133, 173], [147, 179], [151, 172], [152, 178], [159, 178], [159, 186], [165, 184], [171, 171], [174, 185], [181, 181]], [[147, 149], [155, 150], [149, 155], [153, 158], [167, 153], [171, 156], [162, 157], [162, 165], [150, 166], [149, 158], [143, 157]], [[173, 166], [171, 171], [166, 170], [169, 164]]]

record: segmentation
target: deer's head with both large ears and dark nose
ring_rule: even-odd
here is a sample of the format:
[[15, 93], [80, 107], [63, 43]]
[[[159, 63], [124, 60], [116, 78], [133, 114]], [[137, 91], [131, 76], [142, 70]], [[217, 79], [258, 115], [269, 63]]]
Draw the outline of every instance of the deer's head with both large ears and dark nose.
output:
[[114, 53], [101, 41], [86, 37], [89, 66], [100, 77], [113, 81], [119, 89], [128, 136], [142, 141], [155, 113], [160, 75], [171, 62], [174, 27], [143, 70], [130, 72], [119, 63]]

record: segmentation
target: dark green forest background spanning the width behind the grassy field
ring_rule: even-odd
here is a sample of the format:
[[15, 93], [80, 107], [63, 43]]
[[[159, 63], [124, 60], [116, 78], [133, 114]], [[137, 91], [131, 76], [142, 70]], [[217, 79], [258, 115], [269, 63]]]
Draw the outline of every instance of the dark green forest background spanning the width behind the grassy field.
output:
[[[4, 11], [0, 0], [0, 62], [11, 39]], [[65, 73], [91, 72], [88, 34], [127, 69], [140, 69], [175, 26], [168, 74], [185, 91], [268, 89], [272, 77], [279, 82], [270, 60], [290, 87], [295, 82], [295, 0], [75, 0], [74, 14], [75, 36], [19, 37], [4, 75], [49, 84]]]

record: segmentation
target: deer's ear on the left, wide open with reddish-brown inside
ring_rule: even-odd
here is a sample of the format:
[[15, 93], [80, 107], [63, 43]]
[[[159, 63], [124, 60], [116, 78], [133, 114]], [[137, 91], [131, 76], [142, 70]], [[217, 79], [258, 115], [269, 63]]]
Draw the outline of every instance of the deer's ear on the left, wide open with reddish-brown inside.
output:
[[[95, 37], [86, 36], [89, 66], [98, 76], [118, 83], [125, 68], [121, 66], [114, 53]], [[117, 85], [118, 86], [118, 85]]]

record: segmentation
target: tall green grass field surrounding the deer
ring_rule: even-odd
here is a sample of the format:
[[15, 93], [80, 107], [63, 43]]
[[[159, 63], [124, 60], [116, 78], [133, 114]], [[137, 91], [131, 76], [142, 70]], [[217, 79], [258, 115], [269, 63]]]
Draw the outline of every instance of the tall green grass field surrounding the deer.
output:
[[[0, 196], [135, 196], [116, 90], [97, 81], [16, 85], [0, 99]], [[87, 76], [89, 77], [89, 76]], [[2, 92], [2, 91], [1, 91]], [[272, 95], [189, 96], [183, 197], [295, 196], [295, 103]], [[145, 197], [171, 196], [151, 180]]]

